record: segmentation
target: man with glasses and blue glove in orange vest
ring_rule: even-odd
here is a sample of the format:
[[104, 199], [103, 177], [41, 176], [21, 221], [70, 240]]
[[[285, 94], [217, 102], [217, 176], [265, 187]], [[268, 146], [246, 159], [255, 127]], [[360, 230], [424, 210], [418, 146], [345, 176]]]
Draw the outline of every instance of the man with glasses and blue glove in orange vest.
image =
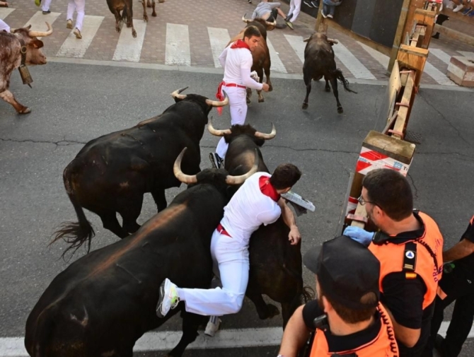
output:
[[359, 203], [379, 231], [347, 227], [344, 234], [369, 246], [381, 263], [381, 303], [391, 315], [400, 356], [422, 356], [441, 279], [441, 232], [427, 214], [413, 211], [410, 184], [395, 170], [369, 172]]

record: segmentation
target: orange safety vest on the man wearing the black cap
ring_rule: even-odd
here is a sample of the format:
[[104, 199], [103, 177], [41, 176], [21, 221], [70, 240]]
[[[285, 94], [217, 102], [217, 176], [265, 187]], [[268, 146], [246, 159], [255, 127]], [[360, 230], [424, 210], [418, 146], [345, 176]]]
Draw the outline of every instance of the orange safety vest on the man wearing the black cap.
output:
[[341, 356], [355, 353], [357, 357], [400, 356], [400, 353], [398, 353], [398, 344], [395, 341], [392, 321], [381, 303], [378, 304], [377, 310], [380, 312], [381, 329], [375, 339], [350, 351], [329, 351], [328, 341], [326, 340], [324, 331], [322, 329], [316, 329], [316, 336], [314, 337], [309, 356], [325, 357], [333, 356], [334, 353], [340, 354]]

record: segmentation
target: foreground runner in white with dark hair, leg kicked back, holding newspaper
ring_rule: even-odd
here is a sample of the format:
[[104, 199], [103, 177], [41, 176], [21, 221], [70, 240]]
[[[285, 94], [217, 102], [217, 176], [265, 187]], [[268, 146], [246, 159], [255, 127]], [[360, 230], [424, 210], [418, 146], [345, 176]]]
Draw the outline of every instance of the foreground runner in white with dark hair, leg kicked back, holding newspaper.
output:
[[261, 224], [274, 223], [282, 215], [290, 228], [291, 245], [301, 239], [293, 213], [280, 198], [300, 177], [300, 170], [290, 163], [279, 165], [273, 175], [256, 172], [250, 176], [224, 208], [224, 218], [212, 235], [211, 254], [214, 267], [219, 268], [222, 288], [178, 288], [165, 279], [160, 286], [156, 315], [164, 317], [179, 301], [185, 302], [187, 312], [199, 315], [221, 316], [241, 310], [250, 267], [250, 235]]

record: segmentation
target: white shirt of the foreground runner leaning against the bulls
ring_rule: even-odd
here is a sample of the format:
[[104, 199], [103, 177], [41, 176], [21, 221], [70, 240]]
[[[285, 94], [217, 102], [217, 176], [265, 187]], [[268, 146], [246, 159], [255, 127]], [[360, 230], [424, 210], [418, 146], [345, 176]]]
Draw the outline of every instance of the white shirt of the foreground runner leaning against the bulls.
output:
[[248, 177], [243, 185], [224, 207], [224, 218], [221, 225], [235, 240], [248, 246], [250, 235], [260, 225], [271, 224], [277, 221], [282, 214], [278, 203], [262, 194], [260, 190], [260, 177], [271, 177], [268, 172], [255, 172]]

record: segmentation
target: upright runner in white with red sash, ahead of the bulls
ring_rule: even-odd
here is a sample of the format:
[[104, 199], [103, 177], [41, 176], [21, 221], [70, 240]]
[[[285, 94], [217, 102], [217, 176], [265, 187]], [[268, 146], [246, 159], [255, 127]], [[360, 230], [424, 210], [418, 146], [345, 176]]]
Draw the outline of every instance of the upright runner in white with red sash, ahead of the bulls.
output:
[[[226, 90], [229, 96], [232, 125], [245, 124], [245, 117], [247, 116], [245, 88], [265, 90], [265, 92], [269, 89], [267, 83], [258, 83], [250, 77], [250, 69], [252, 69], [253, 64], [252, 52], [257, 48], [261, 37], [258, 28], [249, 26], [243, 33], [243, 40], [232, 42], [219, 56], [219, 62], [224, 68], [224, 79], [217, 88], [216, 97], [224, 100], [222, 90]], [[221, 168], [227, 147], [228, 144], [224, 138], [221, 138], [219, 144], [217, 144], [216, 153], [209, 154], [214, 167]]]

